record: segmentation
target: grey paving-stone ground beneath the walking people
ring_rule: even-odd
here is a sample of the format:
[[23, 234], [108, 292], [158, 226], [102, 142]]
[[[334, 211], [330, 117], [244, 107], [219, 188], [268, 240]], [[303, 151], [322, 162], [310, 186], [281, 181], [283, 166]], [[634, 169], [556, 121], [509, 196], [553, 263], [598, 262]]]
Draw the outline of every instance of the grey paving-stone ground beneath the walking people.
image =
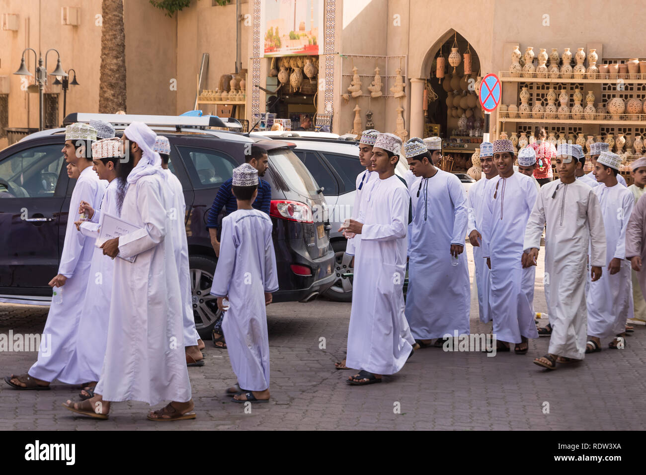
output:
[[[470, 275], [473, 259], [467, 246]], [[536, 271], [534, 306], [547, 311], [543, 262]], [[0, 333], [42, 332], [48, 307], [0, 304]], [[344, 357], [350, 304], [317, 300], [267, 307], [271, 401], [251, 406], [230, 402], [233, 385], [226, 351], [205, 341], [206, 365], [189, 368], [193, 421], [158, 424], [148, 405], [114, 403], [110, 419], [75, 417], [61, 404], [78, 388], [54, 383], [49, 391], [18, 391], [0, 381], [0, 430], [199, 430], [199, 429], [419, 429], [419, 430], [643, 430], [646, 409], [646, 328], [637, 326], [623, 350], [604, 348], [576, 365], [541, 370], [532, 359], [547, 352], [548, 338], [530, 341], [526, 355], [444, 352], [427, 348], [379, 385], [349, 386], [351, 372], [338, 371]], [[471, 332], [491, 331], [478, 320], [472, 288]], [[543, 324], [545, 324], [544, 321]], [[320, 348], [320, 339], [325, 348]], [[0, 374], [22, 373], [36, 352], [1, 352]], [[549, 403], [549, 413], [543, 409]], [[399, 403], [399, 404], [398, 404]], [[400, 413], [395, 414], [399, 406]]]

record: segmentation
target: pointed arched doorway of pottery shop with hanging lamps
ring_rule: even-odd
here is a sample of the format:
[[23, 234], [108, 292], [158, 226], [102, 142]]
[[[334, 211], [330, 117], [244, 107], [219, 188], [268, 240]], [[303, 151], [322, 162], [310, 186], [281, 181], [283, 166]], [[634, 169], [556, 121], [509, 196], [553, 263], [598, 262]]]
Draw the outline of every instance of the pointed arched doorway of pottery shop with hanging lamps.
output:
[[[448, 57], [455, 47], [460, 63], [454, 68]], [[470, 72], [466, 74], [465, 53], [469, 53], [471, 59]], [[444, 58], [441, 78], [437, 76], [437, 59], [440, 57]], [[422, 71], [428, 91], [425, 95], [428, 100], [424, 111], [424, 136], [439, 135], [443, 138], [444, 155], [452, 156], [452, 171], [458, 173], [466, 172], [471, 166], [470, 157], [482, 142], [484, 115], [475, 92], [480, 69], [475, 48], [453, 29], [439, 37], [424, 57]]]

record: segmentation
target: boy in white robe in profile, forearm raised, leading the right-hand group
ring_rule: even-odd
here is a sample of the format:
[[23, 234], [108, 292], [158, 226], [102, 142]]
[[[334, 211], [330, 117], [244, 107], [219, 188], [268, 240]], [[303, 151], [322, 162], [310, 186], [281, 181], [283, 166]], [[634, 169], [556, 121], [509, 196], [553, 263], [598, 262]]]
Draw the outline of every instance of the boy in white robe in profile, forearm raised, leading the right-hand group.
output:
[[401, 145], [393, 134], [377, 137], [371, 162], [379, 182], [366, 205], [365, 222], [349, 220], [347, 227], [361, 235], [346, 358], [347, 366], [360, 372], [348, 378], [350, 385], [380, 383], [383, 374], [401, 370], [413, 349], [402, 336], [410, 197], [395, 176]]

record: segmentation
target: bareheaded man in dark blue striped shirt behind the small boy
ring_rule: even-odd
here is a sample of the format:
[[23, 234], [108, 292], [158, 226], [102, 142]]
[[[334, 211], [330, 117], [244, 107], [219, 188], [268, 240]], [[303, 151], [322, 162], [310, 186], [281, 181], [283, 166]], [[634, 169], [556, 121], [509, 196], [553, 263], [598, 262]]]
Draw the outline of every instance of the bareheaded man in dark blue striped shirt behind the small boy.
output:
[[[264, 213], [269, 215], [269, 207], [271, 206], [271, 185], [260, 178], [260, 176], [264, 176], [269, 168], [267, 152], [261, 147], [258, 147], [258, 145], [252, 145], [251, 151], [249, 151], [248, 154], [245, 154], [245, 162], [258, 170], [258, 196], [251, 206], [259, 211], [264, 211]], [[209, 229], [209, 234], [211, 235], [211, 246], [213, 246], [215, 255], [218, 257], [220, 257], [220, 241], [218, 241], [218, 216], [220, 215], [220, 211], [224, 208], [224, 215], [226, 216], [238, 209], [238, 202], [231, 191], [232, 184], [233, 178], [229, 178], [229, 180], [225, 181], [220, 186], [207, 218], [206, 227]], [[222, 350], [227, 348], [227, 344], [224, 340], [224, 332], [222, 332], [223, 316], [224, 313], [222, 313], [218, 321], [215, 322], [212, 335], [213, 344], [216, 348], [220, 348]]]

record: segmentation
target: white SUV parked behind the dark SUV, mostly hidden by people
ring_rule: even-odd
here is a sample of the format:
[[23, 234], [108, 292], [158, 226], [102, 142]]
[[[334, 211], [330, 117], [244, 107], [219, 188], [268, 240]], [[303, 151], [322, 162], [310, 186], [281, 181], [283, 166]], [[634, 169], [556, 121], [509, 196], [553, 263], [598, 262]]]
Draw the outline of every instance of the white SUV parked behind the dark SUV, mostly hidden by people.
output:
[[[329, 222], [332, 226], [329, 237], [335, 253], [337, 277], [326, 295], [336, 301], [350, 302], [352, 278], [347, 274], [353, 272], [352, 257], [346, 254], [347, 240], [338, 230], [344, 219], [352, 215], [357, 192], [357, 175], [365, 170], [359, 162], [359, 142], [319, 132], [253, 132], [250, 135], [256, 138], [269, 136], [275, 140], [295, 143], [294, 153], [314, 176], [317, 184], [324, 189], [323, 194], [329, 207]], [[400, 158], [395, 173], [403, 177], [407, 172], [408, 164], [404, 158]]]

